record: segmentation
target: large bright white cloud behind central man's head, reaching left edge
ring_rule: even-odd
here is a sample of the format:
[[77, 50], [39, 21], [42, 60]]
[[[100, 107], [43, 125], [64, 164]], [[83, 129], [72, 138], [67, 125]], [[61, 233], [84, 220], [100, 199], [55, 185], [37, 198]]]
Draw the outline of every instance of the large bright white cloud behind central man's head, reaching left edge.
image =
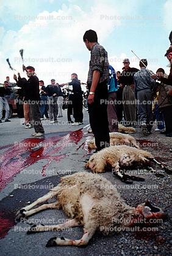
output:
[[129, 3], [126, 9], [118, 1], [96, 0], [90, 12], [85, 12], [78, 5], [67, 7], [63, 4], [58, 12], [41, 12], [29, 22], [25, 17], [26, 7], [22, 7], [24, 13], [21, 12], [21, 18], [26, 18], [26, 24], [20, 31], [7, 31], [4, 34], [2, 29], [1, 81], [6, 75], [10, 75], [11, 80], [13, 77], [13, 72], [5, 62], [6, 58], [10, 58], [12, 66], [21, 72], [21, 48], [24, 48], [24, 64], [34, 66], [38, 78], [44, 80], [46, 85], [51, 78], [56, 78], [59, 83], [68, 81], [72, 72], [77, 72], [82, 81], [87, 81], [90, 52], [82, 40], [84, 32], [94, 29], [99, 42], [104, 45], [116, 26], [121, 24], [116, 16], [130, 13], [135, 0]]

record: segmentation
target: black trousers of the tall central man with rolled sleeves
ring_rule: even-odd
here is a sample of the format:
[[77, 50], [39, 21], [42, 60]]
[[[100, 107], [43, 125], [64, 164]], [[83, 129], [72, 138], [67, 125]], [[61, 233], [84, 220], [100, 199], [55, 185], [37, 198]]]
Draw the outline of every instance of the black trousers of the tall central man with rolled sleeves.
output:
[[97, 150], [109, 146], [109, 122], [107, 119], [107, 81], [99, 83], [94, 97], [94, 103], [88, 104], [90, 126], [95, 135]]

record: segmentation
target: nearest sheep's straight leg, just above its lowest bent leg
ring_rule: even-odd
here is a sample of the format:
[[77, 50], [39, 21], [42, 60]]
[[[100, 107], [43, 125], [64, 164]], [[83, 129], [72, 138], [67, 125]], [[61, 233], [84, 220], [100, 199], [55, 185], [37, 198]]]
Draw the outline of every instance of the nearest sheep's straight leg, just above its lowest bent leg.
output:
[[30, 229], [27, 231], [27, 234], [36, 233], [36, 232], [47, 232], [47, 231], [57, 231], [57, 230], [65, 230], [66, 228], [77, 227], [79, 223], [76, 219], [71, 219], [66, 221], [65, 223], [59, 225], [32, 225]]

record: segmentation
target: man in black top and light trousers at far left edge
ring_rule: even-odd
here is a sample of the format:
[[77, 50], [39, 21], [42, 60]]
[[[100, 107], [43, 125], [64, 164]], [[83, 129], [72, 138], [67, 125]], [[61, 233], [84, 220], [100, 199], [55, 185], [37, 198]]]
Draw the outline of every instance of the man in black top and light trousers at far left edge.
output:
[[7, 102], [7, 96], [10, 95], [10, 89], [8, 88], [9, 82], [4, 81], [4, 86], [0, 87], [0, 122], [2, 122], [2, 110], [3, 107], [5, 108], [5, 122], [10, 122], [9, 120], [9, 113], [10, 108]]

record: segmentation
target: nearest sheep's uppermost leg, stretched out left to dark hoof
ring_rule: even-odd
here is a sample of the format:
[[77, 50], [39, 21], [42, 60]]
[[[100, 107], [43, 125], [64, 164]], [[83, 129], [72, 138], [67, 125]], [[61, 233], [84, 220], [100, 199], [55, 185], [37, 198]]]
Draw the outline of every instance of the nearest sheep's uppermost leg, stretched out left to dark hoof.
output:
[[49, 198], [54, 197], [54, 195], [56, 195], [56, 194], [57, 194], [57, 192], [50, 191], [50, 192], [48, 192], [48, 194], [44, 195], [43, 197], [38, 198], [36, 201], [31, 203], [30, 205], [27, 205], [24, 208], [20, 209], [16, 213], [16, 219], [20, 219], [20, 217], [23, 217], [24, 211], [29, 211], [30, 209], [34, 208], [39, 203], [43, 203], [43, 202], [47, 201]]

